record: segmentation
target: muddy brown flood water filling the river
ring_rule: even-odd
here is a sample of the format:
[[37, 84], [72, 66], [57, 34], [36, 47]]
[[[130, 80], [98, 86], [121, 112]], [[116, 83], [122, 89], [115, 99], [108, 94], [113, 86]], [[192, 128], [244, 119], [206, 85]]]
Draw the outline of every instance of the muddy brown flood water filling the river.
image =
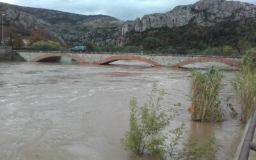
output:
[[229, 84], [234, 71], [223, 72], [220, 99], [227, 120], [201, 124], [191, 122], [188, 111], [188, 69], [0, 63], [0, 159], [140, 159], [120, 139], [129, 128], [129, 99], [142, 105], [154, 82], [166, 92], [166, 111], [179, 111], [170, 128], [184, 123], [185, 140], [214, 136], [221, 145], [214, 159], [232, 159], [244, 126], [241, 115], [232, 118], [226, 107], [231, 97], [240, 111]]

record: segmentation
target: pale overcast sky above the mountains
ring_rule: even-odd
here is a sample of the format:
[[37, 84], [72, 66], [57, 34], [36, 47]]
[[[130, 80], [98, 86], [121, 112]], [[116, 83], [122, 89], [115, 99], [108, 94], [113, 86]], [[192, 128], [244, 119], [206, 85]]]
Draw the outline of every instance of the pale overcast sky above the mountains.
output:
[[[150, 13], [164, 13], [177, 5], [198, 0], [0, 0], [0, 2], [47, 8], [83, 15], [103, 14], [120, 20], [134, 20]], [[240, 0], [256, 4], [256, 0]]]

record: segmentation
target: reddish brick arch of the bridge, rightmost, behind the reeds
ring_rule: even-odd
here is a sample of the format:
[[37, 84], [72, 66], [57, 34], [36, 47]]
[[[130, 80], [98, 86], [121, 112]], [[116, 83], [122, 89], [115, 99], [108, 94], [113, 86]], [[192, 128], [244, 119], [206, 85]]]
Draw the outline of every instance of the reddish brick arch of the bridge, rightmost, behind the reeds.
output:
[[227, 58], [204, 57], [204, 58], [193, 58], [188, 61], [182, 61], [180, 63], [176, 63], [175, 65], [173, 65], [173, 67], [182, 67], [184, 65], [190, 65], [194, 63], [204, 63], [204, 62], [218, 62], [218, 63], [224, 63], [226, 65], [236, 66], [236, 67], [242, 66], [241, 61], [230, 60]]

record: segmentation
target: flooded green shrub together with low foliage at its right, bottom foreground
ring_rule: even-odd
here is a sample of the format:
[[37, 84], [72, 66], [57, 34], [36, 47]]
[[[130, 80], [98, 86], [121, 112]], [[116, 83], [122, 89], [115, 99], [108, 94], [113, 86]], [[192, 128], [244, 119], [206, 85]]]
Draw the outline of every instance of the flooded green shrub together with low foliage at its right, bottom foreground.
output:
[[138, 156], [147, 154], [156, 159], [201, 159], [216, 152], [218, 146], [214, 138], [203, 143], [198, 143], [195, 138], [189, 138], [183, 148], [180, 146], [184, 124], [168, 131], [177, 111], [172, 110], [168, 114], [168, 111], [163, 110], [160, 102], [163, 100], [164, 92], [161, 91], [156, 96], [156, 87], [154, 84], [150, 99], [143, 106], [138, 106], [135, 98], [131, 99], [130, 127], [121, 140], [124, 148]]

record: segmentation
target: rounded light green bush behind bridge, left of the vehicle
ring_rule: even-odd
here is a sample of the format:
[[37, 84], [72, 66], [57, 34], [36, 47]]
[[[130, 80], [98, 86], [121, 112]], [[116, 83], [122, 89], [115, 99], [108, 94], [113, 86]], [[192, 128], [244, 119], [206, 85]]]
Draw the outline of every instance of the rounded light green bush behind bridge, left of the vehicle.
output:
[[59, 42], [53, 42], [51, 40], [35, 42], [31, 47], [42, 51], [60, 51], [62, 48]]

